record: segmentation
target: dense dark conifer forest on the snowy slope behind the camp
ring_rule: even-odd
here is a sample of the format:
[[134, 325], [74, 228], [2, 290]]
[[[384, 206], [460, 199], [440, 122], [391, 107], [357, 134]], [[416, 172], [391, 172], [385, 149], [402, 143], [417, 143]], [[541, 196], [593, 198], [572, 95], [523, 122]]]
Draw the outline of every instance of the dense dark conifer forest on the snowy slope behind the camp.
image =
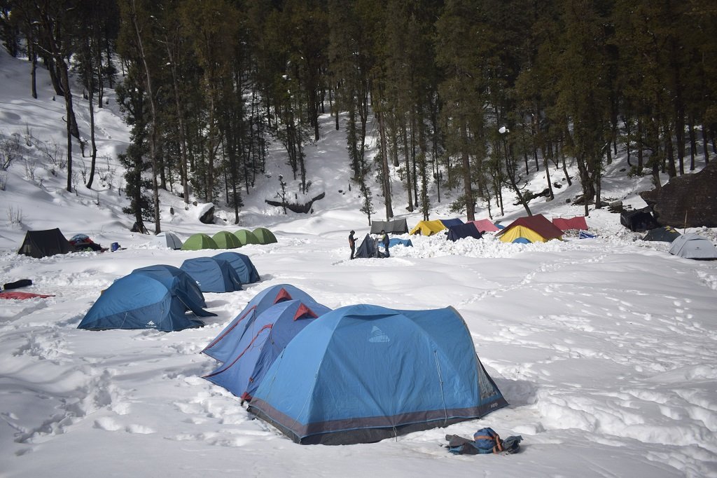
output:
[[103, 108], [116, 92], [125, 212], [157, 229], [160, 189], [238, 222], [270, 144], [305, 194], [327, 127], [386, 217], [442, 200], [468, 220], [504, 199], [529, 213], [536, 171], [549, 197], [579, 181], [587, 214], [617, 156], [655, 187], [717, 160], [713, 0], [0, 0], [0, 36], [28, 60], [27, 95], [45, 69], [64, 100], [68, 168], [73, 93]]

